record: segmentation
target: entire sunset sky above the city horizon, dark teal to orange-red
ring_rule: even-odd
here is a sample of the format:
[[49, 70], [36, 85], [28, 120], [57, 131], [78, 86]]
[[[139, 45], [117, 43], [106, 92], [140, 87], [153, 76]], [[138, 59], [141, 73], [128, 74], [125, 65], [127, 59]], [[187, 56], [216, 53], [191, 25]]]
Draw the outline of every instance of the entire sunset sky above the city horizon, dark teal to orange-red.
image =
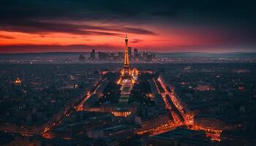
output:
[[0, 53], [256, 50], [256, 2], [1, 0]]

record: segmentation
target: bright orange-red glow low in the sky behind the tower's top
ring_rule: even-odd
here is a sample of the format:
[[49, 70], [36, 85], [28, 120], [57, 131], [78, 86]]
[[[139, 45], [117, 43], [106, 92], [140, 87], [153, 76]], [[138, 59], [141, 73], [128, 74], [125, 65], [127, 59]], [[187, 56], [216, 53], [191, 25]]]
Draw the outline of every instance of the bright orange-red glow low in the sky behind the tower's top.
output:
[[[206, 47], [223, 45], [223, 35], [221, 31], [204, 31], [188, 28], [148, 28], [156, 34], [128, 34], [129, 46], [137, 47], [139, 50], [157, 52], [184, 52], [197, 51], [214, 52]], [[0, 53], [28, 53], [28, 52], [80, 52], [89, 51], [91, 47], [97, 50], [120, 51], [124, 48], [124, 36], [122, 32], [109, 31], [120, 34], [108, 35], [78, 35], [67, 33], [22, 33], [13, 31], [0, 31]], [[210, 33], [210, 34], [209, 34]], [[31, 45], [31, 48], [20, 48], [7, 50], [5, 46]], [[33, 48], [33, 46], [47, 45], [49, 48]], [[54, 48], [51, 46], [85, 45], [83, 48], [66, 47]], [[201, 48], [200, 48], [201, 47]], [[198, 49], [199, 48], [199, 49]], [[222, 51], [220, 49], [220, 51]], [[218, 52], [218, 50], [217, 50]]]

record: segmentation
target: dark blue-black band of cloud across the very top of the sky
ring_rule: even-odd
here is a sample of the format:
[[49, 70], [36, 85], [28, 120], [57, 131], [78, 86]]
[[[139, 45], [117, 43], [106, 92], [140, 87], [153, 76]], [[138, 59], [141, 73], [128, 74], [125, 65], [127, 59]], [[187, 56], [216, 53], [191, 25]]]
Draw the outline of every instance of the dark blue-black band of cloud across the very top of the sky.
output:
[[1, 0], [1, 20], [72, 19], [134, 20], [163, 17], [169, 20], [247, 20], [255, 23], [252, 0]]

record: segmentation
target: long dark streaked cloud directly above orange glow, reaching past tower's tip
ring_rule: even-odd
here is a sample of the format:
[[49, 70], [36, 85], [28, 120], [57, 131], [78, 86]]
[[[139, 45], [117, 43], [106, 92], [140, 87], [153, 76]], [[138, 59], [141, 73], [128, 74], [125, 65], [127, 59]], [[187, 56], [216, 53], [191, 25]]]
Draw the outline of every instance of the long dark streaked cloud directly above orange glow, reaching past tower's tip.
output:
[[75, 25], [69, 23], [49, 23], [49, 22], [37, 22], [31, 20], [12, 20], [15, 25], [9, 23], [1, 23], [0, 30], [2, 31], [18, 31], [29, 34], [45, 34], [52, 32], [79, 34], [79, 35], [109, 35], [109, 36], [122, 36], [123, 34], [107, 32], [117, 31], [120, 33], [132, 33], [132, 34], [155, 34], [153, 31], [148, 31], [143, 28], [122, 28], [114, 26], [90, 26], [90, 25]]

